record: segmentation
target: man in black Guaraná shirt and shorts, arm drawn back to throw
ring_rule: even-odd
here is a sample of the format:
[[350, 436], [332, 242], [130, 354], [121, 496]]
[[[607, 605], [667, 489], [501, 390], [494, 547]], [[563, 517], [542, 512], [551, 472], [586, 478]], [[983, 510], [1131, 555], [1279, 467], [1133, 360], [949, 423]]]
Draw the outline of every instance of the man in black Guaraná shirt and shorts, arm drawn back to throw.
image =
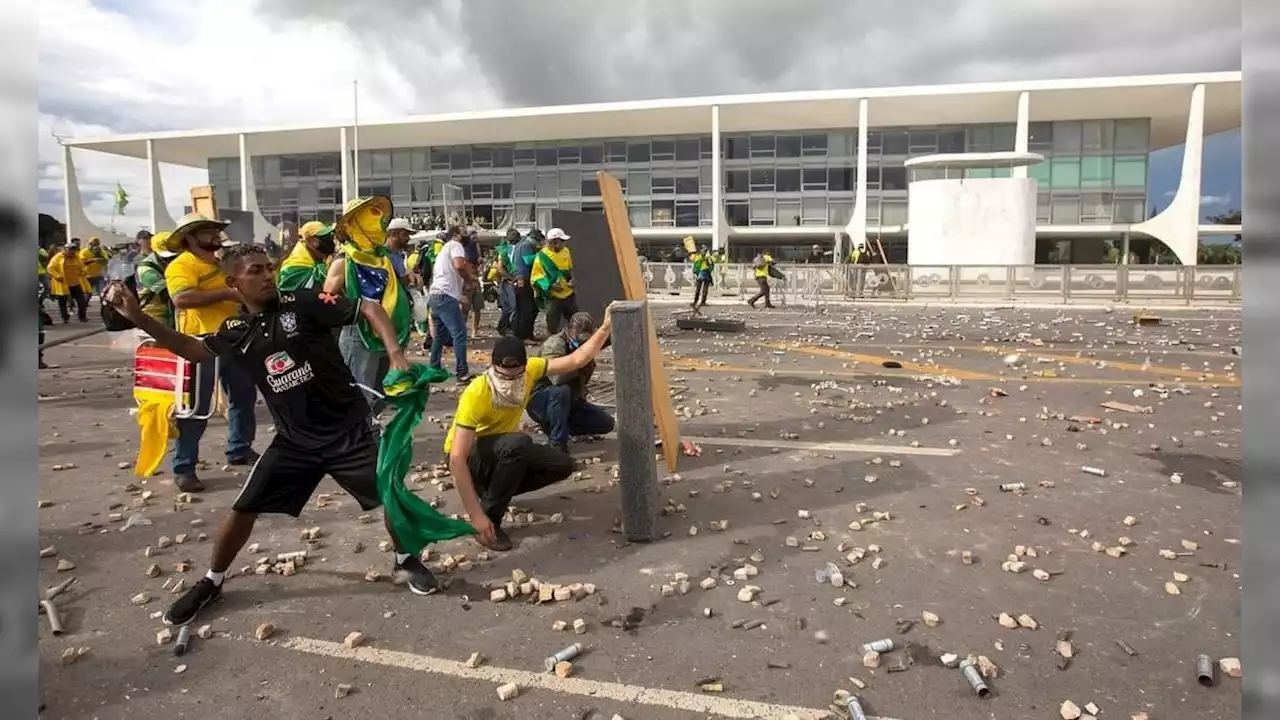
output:
[[[164, 615], [168, 625], [186, 625], [221, 597], [223, 578], [248, 542], [257, 515], [294, 518], [325, 474], [351, 493], [360, 507], [381, 505], [378, 495], [378, 436], [369, 402], [353, 387], [351, 370], [338, 350], [334, 328], [364, 315], [388, 348], [392, 368], [408, 366], [387, 313], [376, 302], [311, 290], [279, 292], [266, 252], [256, 245], [228, 247], [220, 256], [227, 284], [239, 295], [244, 313], [228, 318], [205, 337], [178, 333], [142, 313], [124, 286], [113, 284], [108, 300], [165, 348], [202, 363], [220, 357], [253, 377], [276, 434], [253, 465], [232, 510], [218, 528], [209, 573]], [[388, 532], [390, 528], [388, 527]], [[407, 575], [410, 591], [430, 594], [435, 577], [419, 557], [396, 546], [396, 570]]]

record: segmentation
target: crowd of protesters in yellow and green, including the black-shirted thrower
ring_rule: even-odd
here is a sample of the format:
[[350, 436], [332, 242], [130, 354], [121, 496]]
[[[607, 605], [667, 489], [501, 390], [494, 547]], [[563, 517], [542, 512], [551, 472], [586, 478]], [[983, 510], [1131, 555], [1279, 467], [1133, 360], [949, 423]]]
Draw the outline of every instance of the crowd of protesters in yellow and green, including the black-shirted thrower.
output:
[[[503, 519], [513, 497], [572, 473], [573, 437], [613, 429], [613, 416], [586, 389], [609, 338], [609, 313], [596, 322], [579, 310], [563, 231], [511, 231], [481, 252], [475, 228], [452, 225], [424, 238], [393, 217], [387, 197], [352, 200], [335, 223], [306, 223], [291, 247], [274, 254], [230, 243], [225, 227], [198, 214], [182, 218], [174, 231], [146, 237], [148, 252], [132, 260], [131, 282], [99, 291], [155, 345], [201, 369], [196, 411], [174, 421], [177, 487], [204, 489], [196, 468], [207, 421], [197, 418], [214, 402], [215, 375], [227, 398], [227, 461], [251, 468], [218, 529], [209, 571], [168, 609], [165, 623], [191, 623], [221, 597], [256, 518], [297, 516], [324, 475], [364, 510], [381, 503], [383, 380], [410, 368], [416, 333], [434, 368], [452, 348], [463, 387], [436, 457], [453, 474], [476, 539], [490, 550], [512, 547]], [[47, 265], [41, 256], [49, 287], [56, 297], [87, 299], [95, 284], [81, 251], [60, 255]], [[499, 307], [498, 333], [490, 363], [472, 374], [467, 347], [483, 334], [486, 290]], [[548, 334], [535, 338], [540, 313]], [[259, 395], [275, 425], [261, 454], [253, 448]], [[521, 430], [526, 416], [545, 443]], [[389, 521], [388, 532], [408, 589], [434, 592], [431, 571], [403, 551]]]

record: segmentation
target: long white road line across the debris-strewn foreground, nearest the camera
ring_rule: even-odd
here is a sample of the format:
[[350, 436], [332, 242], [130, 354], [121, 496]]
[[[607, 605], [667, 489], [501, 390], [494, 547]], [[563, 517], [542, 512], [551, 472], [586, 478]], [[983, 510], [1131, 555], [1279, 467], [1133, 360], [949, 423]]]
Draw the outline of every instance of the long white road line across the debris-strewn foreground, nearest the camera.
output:
[[[607, 698], [634, 705], [685, 710], [689, 712], [705, 712], [722, 717], [768, 720], [778, 720], [788, 715], [795, 715], [803, 720], [822, 720], [824, 717], [831, 717], [831, 712], [828, 710], [773, 705], [768, 702], [754, 702], [723, 696], [666, 691], [660, 688], [644, 688], [640, 685], [588, 680], [584, 678], [559, 678], [548, 673], [531, 673], [529, 670], [513, 670], [493, 665], [467, 667], [466, 664], [454, 660], [443, 660], [440, 657], [413, 655], [410, 652], [381, 650], [376, 647], [356, 647], [352, 650], [347, 648], [342, 643], [312, 638], [289, 638], [280, 642], [278, 647], [297, 652], [306, 652], [308, 655], [371, 662], [374, 665], [384, 665], [388, 667], [402, 667], [404, 670], [413, 670], [417, 673], [433, 673], [436, 675], [451, 675], [468, 680], [484, 680], [493, 683], [494, 685], [516, 683], [521, 689], [539, 688], [556, 693]], [[870, 717], [869, 720], [892, 719]]]

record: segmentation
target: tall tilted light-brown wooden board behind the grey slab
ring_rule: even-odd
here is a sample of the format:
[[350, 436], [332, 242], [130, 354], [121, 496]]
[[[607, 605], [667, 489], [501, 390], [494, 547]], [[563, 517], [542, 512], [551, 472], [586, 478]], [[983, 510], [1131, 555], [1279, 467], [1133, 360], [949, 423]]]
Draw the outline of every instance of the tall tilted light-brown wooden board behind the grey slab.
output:
[[[640, 274], [640, 255], [636, 252], [635, 236], [631, 234], [631, 218], [627, 215], [627, 202], [622, 186], [613, 176], [599, 170], [600, 197], [604, 204], [604, 217], [609, 224], [613, 240], [613, 254], [622, 281], [623, 296], [618, 300], [648, 300], [644, 277]], [[662, 439], [662, 454], [667, 460], [667, 471], [675, 473], [680, 461], [680, 425], [676, 423], [676, 409], [671, 405], [667, 391], [667, 372], [662, 366], [662, 347], [658, 345], [658, 325], [649, 311], [649, 380], [653, 393], [653, 414], [658, 420], [658, 437]]]

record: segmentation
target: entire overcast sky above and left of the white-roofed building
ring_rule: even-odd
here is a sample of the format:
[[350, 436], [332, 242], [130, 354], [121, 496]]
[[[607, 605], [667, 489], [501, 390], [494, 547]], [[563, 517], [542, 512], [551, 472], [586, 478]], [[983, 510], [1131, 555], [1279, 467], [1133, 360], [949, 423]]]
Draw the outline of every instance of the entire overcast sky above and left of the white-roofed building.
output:
[[[59, 136], [582, 101], [1240, 68], [1208, 0], [40, 0], [40, 200]], [[196, 69], [209, 68], [209, 77]], [[142, 160], [77, 151], [90, 218]], [[164, 167], [170, 214], [204, 170]], [[1207, 191], [1210, 188], [1206, 188]]]

